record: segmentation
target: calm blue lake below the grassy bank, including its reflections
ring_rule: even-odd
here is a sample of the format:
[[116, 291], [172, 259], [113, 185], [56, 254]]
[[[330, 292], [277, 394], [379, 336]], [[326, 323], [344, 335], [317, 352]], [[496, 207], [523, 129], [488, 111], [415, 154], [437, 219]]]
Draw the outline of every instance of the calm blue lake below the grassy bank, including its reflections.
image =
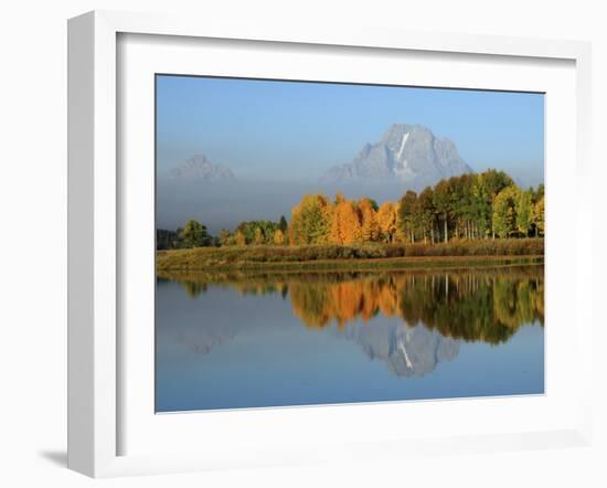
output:
[[542, 266], [157, 280], [157, 412], [543, 392]]

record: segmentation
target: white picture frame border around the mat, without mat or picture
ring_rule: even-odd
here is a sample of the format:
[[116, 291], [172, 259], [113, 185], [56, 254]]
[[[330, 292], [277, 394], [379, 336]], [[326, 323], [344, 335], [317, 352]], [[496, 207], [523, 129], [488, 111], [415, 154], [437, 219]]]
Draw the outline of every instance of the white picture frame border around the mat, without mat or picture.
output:
[[[563, 428], [523, 428], [497, 434], [480, 432], [469, 436], [428, 436], [416, 438], [415, 446], [405, 438], [385, 439], [368, 436], [349, 441], [340, 449], [294, 448], [279, 444], [263, 445], [248, 458], [204, 452], [120, 455], [120, 405], [124, 391], [119, 361], [124, 353], [119, 333], [119, 269], [127, 254], [119, 252], [124, 230], [120, 215], [119, 158], [117, 134], [119, 93], [117, 73], [120, 61], [117, 39], [120, 34], [171, 35], [180, 39], [220, 39], [245, 42], [297, 43], [301, 45], [373, 47], [375, 50], [424, 53], [515, 56], [533, 60], [564, 60], [575, 63], [575, 167], [577, 206], [572, 210], [576, 232], [575, 248], [575, 323], [578, 372], [590, 369], [590, 295], [582, 293], [582, 283], [590, 283], [590, 208], [589, 124], [590, 124], [590, 46], [572, 41], [542, 41], [459, 34], [391, 32], [379, 29], [340, 26], [324, 31], [315, 26], [201, 23], [196, 19], [166, 15], [96, 11], [68, 22], [68, 467], [88, 476], [105, 477], [134, 474], [203, 470], [239, 466], [273, 466], [318, 460], [373, 457], [402, 457], [412, 453], [435, 455], [454, 450], [498, 450], [583, 445], [590, 442], [590, 374], [582, 374], [576, 392], [578, 406], [574, 425]], [[550, 190], [549, 190], [550, 191]], [[550, 202], [550, 200], [549, 200]], [[550, 203], [549, 211], [550, 214]], [[550, 220], [549, 220], [550, 222]], [[549, 285], [550, 286], [550, 285]], [[549, 327], [555, 327], [551, 323]], [[550, 349], [547, 351], [550, 354]], [[475, 401], [471, 401], [475, 402]], [[364, 409], [377, 409], [368, 405]], [[315, 412], [330, 407], [318, 407]], [[397, 404], [391, 406], [398, 409]], [[280, 422], [299, 422], [311, 410], [297, 409], [273, 414]], [[230, 413], [228, 413], [230, 415]], [[238, 413], [243, 415], [243, 413]], [[246, 420], [244, 413], [243, 422]], [[295, 415], [295, 416], [294, 416]], [[298, 416], [299, 415], [299, 416]], [[257, 417], [258, 422], [260, 417]], [[263, 422], [268, 422], [263, 421]], [[482, 431], [482, 428], [481, 428]], [[212, 441], [212, 439], [209, 439]], [[168, 454], [172, 452], [172, 454]]]

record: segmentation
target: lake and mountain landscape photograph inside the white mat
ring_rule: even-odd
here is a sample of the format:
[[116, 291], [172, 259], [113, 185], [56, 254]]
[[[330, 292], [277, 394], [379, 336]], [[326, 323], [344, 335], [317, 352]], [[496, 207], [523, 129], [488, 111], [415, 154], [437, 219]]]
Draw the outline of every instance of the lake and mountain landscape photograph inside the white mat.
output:
[[155, 83], [156, 413], [545, 393], [544, 93]]

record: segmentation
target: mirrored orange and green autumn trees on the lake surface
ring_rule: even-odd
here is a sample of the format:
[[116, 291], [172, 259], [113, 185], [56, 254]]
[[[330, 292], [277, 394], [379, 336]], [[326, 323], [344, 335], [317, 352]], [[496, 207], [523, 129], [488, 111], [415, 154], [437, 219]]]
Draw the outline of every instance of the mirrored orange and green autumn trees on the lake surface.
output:
[[195, 299], [210, 286], [241, 295], [280, 294], [308, 328], [339, 329], [381, 315], [440, 336], [498, 344], [524, 323], [544, 323], [543, 266], [499, 270], [162, 274]]

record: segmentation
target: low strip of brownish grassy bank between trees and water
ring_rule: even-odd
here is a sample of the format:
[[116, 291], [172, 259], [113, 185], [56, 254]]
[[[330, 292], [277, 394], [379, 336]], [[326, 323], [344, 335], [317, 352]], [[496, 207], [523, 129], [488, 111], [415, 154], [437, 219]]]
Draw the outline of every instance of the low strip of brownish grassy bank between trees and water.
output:
[[157, 270], [341, 270], [542, 264], [543, 240], [425, 245], [199, 247], [157, 252]]

